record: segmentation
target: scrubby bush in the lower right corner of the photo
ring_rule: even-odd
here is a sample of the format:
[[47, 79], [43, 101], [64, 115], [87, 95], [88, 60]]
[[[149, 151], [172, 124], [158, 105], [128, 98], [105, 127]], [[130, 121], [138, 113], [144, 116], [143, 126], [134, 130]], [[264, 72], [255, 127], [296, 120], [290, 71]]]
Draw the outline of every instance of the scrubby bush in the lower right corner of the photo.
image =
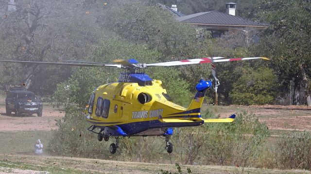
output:
[[284, 168], [311, 169], [311, 133], [290, 132], [280, 136], [276, 154]]

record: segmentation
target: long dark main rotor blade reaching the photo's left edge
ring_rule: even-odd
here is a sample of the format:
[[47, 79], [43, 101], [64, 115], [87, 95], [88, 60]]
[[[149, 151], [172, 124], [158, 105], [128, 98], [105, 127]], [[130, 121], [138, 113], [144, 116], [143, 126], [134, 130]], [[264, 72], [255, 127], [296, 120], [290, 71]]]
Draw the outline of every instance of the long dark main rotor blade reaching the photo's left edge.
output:
[[47, 65], [65, 65], [65, 66], [78, 66], [78, 67], [117, 67], [121, 68], [118, 64], [92, 64], [92, 63], [60, 63], [60, 62], [38, 62], [38, 61], [22, 61], [22, 60], [0, 60], [0, 62], [13, 62], [13, 63], [27, 63], [27, 64], [47, 64]]

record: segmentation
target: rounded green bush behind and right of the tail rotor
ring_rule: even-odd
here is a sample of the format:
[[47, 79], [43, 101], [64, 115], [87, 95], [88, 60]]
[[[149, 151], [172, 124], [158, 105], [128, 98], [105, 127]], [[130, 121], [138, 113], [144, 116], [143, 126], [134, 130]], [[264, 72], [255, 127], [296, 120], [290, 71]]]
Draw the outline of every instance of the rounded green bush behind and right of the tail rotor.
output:
[[270, 68], [244, 69], [242, 76], [233, 83], [230, 97], [235, 104], [268, 104], [273, 103], [277, 77]]

